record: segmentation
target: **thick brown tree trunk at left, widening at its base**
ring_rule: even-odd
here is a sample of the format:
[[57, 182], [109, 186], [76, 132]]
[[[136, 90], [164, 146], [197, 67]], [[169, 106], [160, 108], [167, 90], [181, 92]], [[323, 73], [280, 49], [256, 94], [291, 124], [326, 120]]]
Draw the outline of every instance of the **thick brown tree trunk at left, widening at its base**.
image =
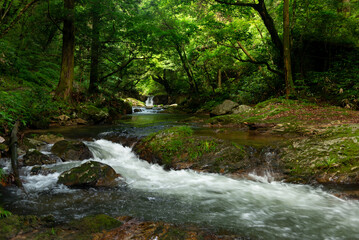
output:
[[66, 16], [62, 35], [61, 74], [55, 95], [58, 98], [67, 100], [71, 97], [74, 81], [75, 0], [64, 0], [64, 6]]

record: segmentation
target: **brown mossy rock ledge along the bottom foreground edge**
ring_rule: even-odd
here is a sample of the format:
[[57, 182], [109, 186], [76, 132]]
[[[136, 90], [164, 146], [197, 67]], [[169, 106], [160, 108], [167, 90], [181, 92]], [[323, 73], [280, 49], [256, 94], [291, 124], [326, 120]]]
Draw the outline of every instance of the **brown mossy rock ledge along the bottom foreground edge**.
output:
[[[177, 226], [165, 222], [141, 221], [105, 214], [88, 216], [70, 223], [57, 223], [46, 217], [12, 215], [0, 221], [0, 239], [244, 239], [232, 234], [216, 234], [195, 226]], [[245, 238], [249, 239], [249, 238]]]

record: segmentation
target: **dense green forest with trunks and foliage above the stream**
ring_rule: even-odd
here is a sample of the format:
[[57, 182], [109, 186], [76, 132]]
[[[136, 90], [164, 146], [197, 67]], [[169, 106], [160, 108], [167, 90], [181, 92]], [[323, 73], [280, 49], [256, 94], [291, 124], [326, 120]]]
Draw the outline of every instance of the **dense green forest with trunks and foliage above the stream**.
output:
[[1, 0], [0, 131], [141, 95], [169, 95], [193, 112], [285, 95], [358, 109], [358, 8], [358, 0]]

